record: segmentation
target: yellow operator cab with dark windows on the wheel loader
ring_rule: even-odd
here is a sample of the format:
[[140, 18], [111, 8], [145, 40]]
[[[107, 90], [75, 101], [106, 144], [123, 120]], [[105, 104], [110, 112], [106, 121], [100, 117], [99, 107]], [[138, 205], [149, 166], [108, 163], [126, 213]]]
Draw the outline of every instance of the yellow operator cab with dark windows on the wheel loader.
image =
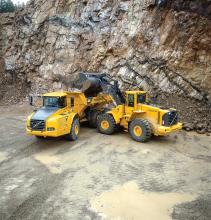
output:
[[147, 102], [147, 93], [145, 91], [127, 91], [126, 92], [126, 114], [131, 114], [133, 111], [138, 110], [139, 104]]

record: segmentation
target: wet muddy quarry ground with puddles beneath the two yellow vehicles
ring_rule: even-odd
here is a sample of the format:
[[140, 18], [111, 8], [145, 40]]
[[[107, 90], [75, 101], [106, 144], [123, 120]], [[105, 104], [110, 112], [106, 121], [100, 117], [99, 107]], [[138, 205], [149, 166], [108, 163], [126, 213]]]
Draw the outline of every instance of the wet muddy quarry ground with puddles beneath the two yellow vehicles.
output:
[[25, 134], [29, 111], [0, 107], [1, 220], [211, 219], [211, 137], [42, 140]]

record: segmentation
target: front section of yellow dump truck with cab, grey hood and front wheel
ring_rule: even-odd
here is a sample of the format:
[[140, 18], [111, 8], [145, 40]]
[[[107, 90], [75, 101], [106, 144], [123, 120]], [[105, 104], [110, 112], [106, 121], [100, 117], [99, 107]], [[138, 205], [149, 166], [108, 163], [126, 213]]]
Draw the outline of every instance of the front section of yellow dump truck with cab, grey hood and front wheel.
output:
[[42, 107], [27, 118], [27, 133], [37, 137], [66, 135], [76, 140], [86, 106], [86, 97], [81, 92], [46, 93], [42, 96]]

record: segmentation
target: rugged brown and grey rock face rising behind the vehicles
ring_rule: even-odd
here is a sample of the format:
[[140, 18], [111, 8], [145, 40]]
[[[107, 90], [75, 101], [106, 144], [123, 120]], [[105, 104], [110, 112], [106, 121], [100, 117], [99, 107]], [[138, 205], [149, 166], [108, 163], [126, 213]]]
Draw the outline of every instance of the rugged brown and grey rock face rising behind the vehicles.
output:
[[68, 89], [80, 71], [106, 72], [123, 89], [176, 106], [187, 121], [200, 108], [194, 113], [211, 126], [210, 1], [32, 0], [12, 25], [2, 22], [8, 16], [5, 77], [25, 92]]

